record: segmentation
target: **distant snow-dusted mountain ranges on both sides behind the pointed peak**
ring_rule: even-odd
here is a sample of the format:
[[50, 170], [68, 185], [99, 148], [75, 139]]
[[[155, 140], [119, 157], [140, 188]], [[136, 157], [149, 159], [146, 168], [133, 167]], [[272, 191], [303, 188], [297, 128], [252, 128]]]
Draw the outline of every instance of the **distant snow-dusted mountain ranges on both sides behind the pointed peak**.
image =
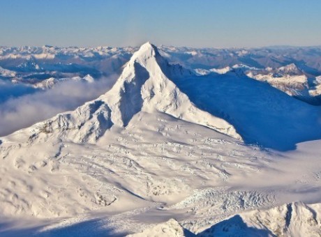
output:
[[[313, 105], [321, 98], [321, 47], [195, 49], [158, 47], [160, 54], [196, 74], [235, 72]], [[0, 79], [47, 89], [68, 78], [120, 73], [137, 47], [0, 47]]]

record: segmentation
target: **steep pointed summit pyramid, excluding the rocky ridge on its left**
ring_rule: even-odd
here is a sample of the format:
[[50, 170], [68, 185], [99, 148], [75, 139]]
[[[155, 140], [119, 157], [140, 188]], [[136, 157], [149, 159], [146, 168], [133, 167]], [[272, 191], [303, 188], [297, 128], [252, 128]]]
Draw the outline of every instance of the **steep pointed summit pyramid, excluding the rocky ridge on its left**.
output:
[[197, 109], [169, 79], [184, 75], [184, 68], [179, 71], [179, 67], [167, 63], [151, 43], [142, 45], [133, 54], [113, 88], [101, 97], [112, 109], [112, 123], [126, 126], [140, 111], [163, 112], [239, 139], [232, 125]]

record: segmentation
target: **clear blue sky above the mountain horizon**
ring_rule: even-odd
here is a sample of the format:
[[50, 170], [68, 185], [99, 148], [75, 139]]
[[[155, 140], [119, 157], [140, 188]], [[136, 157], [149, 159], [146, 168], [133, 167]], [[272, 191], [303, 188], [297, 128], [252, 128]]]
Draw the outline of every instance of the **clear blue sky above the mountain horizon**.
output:
[[0, 45], [321, 45], [321, 0], [0, 0]]

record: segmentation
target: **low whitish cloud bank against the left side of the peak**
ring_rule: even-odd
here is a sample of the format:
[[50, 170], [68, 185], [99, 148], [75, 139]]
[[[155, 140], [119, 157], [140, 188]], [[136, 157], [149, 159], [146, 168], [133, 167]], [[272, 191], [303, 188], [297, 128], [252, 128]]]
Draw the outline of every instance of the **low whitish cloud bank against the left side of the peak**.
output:
[[70, 80], [61, 82], [47, 91], [7, 98], [4, 102], [0, 100], [0, 136], [27, 128], [61, 112], [73, 110], [84, 102], [94, 100], [106, 93], [115, 79], [116, 76], [112, 76], [94, 83]]

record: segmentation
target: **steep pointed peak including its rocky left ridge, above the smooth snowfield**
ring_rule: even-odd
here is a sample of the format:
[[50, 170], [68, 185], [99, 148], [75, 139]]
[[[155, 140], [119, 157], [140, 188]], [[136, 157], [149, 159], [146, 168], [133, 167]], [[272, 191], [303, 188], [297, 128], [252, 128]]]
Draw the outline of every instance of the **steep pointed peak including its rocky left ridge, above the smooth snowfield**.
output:
[[[172, 68], [157, 48], [145, 43], [133, 54], [112, 89], [74, 112], [58, 114], [31, 127], [31, 140], [48, 137], [96, 142], [112, 126], [124, 128], [140, 112], [164, 113], [241, 139], [225, 120], [198, 109], [169, 78]], [[184, 71], [184, 70], [182, 70]]]

